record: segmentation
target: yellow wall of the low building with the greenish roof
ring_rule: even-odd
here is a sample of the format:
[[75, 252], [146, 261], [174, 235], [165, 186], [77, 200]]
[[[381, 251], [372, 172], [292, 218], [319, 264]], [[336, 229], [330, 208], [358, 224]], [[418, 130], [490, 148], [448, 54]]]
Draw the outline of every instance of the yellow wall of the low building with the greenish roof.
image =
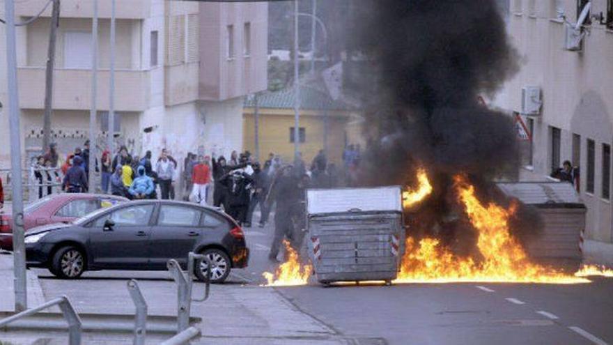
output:
[[[255, 152], [254, 109], [245, 109], [244, 137], [245, 150]], [[326, 125], [327, 121], [327, 125]], [[304, 128], [305, 142], [300, 143], [302, 158], [307, 164], [324, 148], [327, 128], [327, 158], [340, 167], [345, 148], [348, 114], [329, 114], [325, 120], [322, 114], [304, 110], [300, 114], [300, 128]], [[293, 161], [294, 143], [290, 142], [290, 128], [295, 125], [292, 109], [260, 109], [259, 141], [260, 157], [268, 153], [281, 155], [286, 162]]]

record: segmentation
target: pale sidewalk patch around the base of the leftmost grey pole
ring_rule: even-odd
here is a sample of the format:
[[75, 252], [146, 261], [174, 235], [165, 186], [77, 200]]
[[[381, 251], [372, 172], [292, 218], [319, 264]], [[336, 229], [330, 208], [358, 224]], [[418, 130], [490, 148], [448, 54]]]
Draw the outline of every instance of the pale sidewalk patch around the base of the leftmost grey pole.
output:
[[[15, 310], [15, 275], [13, 273], [13, 255], [0, 254], [0, 312]], [[35, 307], [45, 302], [38, 277], [31, 270], [26, 270], [26, 289], [28, 307]]]

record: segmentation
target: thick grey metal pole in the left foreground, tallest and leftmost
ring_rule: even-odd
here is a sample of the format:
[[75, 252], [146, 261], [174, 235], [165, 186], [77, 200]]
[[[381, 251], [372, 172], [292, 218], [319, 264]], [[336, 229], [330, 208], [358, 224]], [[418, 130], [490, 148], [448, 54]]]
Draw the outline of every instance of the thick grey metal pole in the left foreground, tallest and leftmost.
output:
[[28, 307], [26, 290], [26, 245], [24, 243], [24, 199], [22, 195], [22, 147], [19, 93], [17, 92], [17, 47], [15, 45], [15, 2], [4, 0], [6, 15], [6, 79], [8, 82], [8, 125], [10, 128], [10, 174], [13, 187], [13, 273], [15, 312]]

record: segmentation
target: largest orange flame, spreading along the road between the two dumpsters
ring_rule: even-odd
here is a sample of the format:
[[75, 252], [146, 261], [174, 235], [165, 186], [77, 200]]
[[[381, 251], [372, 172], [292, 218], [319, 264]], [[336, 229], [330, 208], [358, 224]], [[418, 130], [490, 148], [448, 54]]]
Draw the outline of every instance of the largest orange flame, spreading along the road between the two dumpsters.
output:
[[474, 187], [460, 176], [456, 177], [456, 190], [472, 226], [479, 233], [477, 248], [481, 258], [455, 256], [433, 238], [424, 238], [419, 244], [413, 238], [407, 238], [401, 272], [394, 282], [589, 282], [582, 277], [565, 275], [531, 263], [509, 231], [508, 220], [514, 212], [513, 207], [506, 210], [496, 204], [483, 205], [476, 198]]

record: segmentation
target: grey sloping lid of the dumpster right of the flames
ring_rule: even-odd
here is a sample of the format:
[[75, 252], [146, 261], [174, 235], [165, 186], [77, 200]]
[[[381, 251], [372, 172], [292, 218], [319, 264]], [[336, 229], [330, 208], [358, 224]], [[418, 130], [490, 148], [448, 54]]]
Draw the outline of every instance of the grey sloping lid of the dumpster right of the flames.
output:
[[522, 203], [547, 207], [584, 207], [579, 194], [567, 182], [514, 182], [497, 183], [500, 190]]

